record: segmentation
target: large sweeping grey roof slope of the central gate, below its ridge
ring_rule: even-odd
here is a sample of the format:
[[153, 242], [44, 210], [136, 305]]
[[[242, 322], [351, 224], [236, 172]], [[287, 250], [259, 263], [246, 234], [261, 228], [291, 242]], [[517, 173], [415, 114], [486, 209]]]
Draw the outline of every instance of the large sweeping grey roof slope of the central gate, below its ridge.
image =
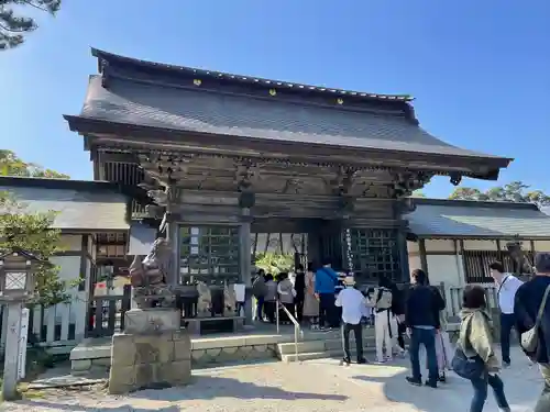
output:
[[[195, 133], [492, 158], [444, 143], [403, 116], [91, 76], [81, 118]], [[502, 159], [506, 167], [509, 159]]]

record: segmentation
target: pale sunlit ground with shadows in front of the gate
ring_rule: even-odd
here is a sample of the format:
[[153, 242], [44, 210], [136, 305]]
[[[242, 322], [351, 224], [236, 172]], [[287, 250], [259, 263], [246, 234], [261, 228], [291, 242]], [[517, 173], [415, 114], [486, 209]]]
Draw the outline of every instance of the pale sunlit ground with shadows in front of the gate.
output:
[[[532, 408], [541, 389], [535, 366], [517, 350], [514, 366], [503, 371], [514, 412]], [[341, 367], [326, 359], [304, 364], [270, 363], [200, 370], [186, 388], [147, 390], [129, 397], [107, 396], [99, 387], [52, 390], [41, 398], [6, 403], [2, 411], [74, 412], [252, 412], [252, 411], [370, 411], [463, 412], [471, 397], [470, 383], [451, 376], [433, 390], [405, 382], [407, 361], [392, 366]], [[490, 399], [486, 412], [496, 412]]]

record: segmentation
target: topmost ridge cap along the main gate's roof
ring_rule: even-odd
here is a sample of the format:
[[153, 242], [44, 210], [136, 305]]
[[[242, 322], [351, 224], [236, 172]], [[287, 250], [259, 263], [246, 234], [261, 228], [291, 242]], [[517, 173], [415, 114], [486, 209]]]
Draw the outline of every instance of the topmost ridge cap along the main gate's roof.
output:
[[144, 67], [155, 67], [155, 68], [161, 68], [161, 69], [165, 69], [165, 70], [173, 70], [173, 71], [175, 71], [175, 70], [187, 71], [187, 73], [194, 73], [194, 74], [202, 75], [202, 76], [206, 75], [206, 76], [211, 76], [215, 78], [238, 80], [238, 81], [243, 81], [243, 82], [249, 82], [249, 83], [264, 83], [265, 86], [272, 86], [272, 87], [286, 87], [289, 89], [297, 89], [297, 90], [318, 91], [318, 92], [332, 94], [332, 96], [355, 96], [355, 97], [373, 99], [373, 100], [400, 101], [400, 102], [410, 102], [410, 101], [415, 100], [409, 94], [371, 93], [371, 92], [358, 91], [358, 90], [348, 90], [348, 89], [340, 89], [340, 88], [332, 88], [332, 87], [314, 86], [314, 85], [307, 85], [307, 83], [267, 79], [267, 78], [256, 77], [256, 76], [234, 75], [234, 74], [230, 74], [230, 73], [208, 70], [208, 69], [201, 69], [201, 68], [197, 68], [197, 67], [179, 66], [179, 65], [165, 64], [165, 63], [155, 63], [155, 62], [151, 62], [151, 60], [143, 60], [143, 59], [139, 59], [139, 58], [121, 56], [121, 55], [105, 52], [105, 51], [101, 51], [101, 49], [95, 48], [95, 47], [91, 47], [91, 55], [94, 57], [98, 58], [98, 70], [100, 73], [103, 69], [103, 64], [105, 64], [103, 60], [117, 59], [119, 62], [131, 63], [134, 65], [144, 66]]

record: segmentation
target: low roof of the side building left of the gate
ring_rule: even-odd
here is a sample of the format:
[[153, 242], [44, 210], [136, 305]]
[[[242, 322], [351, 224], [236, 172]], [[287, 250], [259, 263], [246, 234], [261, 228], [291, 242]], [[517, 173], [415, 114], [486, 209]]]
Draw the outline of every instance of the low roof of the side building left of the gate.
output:
[[[18, 179], [14, 179], [18, 180]], [[70, 188], [24, 186], [25, 180], [18, 185], [0, 178], [0, 191], [10, 192], [30, 212], [58, 212], [54, 227], [74, 231], [119, 231], [128, 230], [128, 198], [112, 190], [86, 190]], [[36, 179], [41, 180], [41, 179]], [[70, 186], [73, 181], [68, 181]], [[79, 183], [79, 182], [77, 182]], [[90, 187], [95, 182], [89, 182]], [[86, 186], [86, 185], [84, 185]], [[96, 185], [97, 186], [97, 185]]]

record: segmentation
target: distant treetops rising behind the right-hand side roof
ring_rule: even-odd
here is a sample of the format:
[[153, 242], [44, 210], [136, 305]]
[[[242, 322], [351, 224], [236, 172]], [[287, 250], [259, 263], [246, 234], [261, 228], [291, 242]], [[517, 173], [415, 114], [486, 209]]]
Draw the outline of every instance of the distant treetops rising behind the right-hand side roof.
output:
[[550, 205], [550, 196], [541, 190], [529, 191], [529, 185], [525, 185], [521, 181], [513, 181], [502, 187], [491, 188], [484, 192], [479, 189], [462, 187], [454, 189], [449, 199], [535, 203], [538, 207]]

